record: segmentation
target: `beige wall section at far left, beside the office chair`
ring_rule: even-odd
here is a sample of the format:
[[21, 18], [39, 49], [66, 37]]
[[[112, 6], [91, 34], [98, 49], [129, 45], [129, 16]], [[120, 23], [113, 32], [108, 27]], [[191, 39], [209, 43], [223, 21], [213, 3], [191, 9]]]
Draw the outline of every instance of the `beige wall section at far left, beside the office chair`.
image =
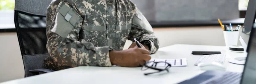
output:
[[0, 82], [24, 77], [24, 66], [15, 33], [0, 33]]

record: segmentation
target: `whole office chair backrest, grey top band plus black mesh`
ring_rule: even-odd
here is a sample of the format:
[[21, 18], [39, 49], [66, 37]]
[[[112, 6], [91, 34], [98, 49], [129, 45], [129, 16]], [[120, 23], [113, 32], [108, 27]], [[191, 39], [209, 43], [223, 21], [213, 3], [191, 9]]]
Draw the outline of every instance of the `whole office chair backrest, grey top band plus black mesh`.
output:
[[46, 10], [52, 0], [15, 0], [15, 27], [22, 55], [48, 53]]

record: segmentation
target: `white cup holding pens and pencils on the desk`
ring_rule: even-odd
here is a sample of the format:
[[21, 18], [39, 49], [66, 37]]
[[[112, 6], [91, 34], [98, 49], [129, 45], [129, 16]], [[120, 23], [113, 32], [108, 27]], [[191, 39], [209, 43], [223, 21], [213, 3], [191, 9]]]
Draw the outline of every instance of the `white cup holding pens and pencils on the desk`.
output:
[[223, 31], [226, 47], [237, 46], [239, 31]]

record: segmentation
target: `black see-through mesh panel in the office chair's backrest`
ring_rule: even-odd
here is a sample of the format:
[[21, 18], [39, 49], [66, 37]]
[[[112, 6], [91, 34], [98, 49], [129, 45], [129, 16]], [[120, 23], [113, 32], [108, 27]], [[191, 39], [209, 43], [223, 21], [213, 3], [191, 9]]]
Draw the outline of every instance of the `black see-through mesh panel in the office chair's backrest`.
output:
[[47, 53], [45, 22], [45, 16], [15, 11], [15, 27], [22, 56]]

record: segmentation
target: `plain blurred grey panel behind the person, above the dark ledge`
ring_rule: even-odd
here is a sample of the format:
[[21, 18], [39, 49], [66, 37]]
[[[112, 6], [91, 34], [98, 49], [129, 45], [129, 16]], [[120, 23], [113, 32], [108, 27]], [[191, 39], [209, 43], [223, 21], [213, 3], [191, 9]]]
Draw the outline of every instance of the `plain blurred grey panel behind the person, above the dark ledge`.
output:
[[238, 0], [131, 0], [149, 21], [239, 18]]

